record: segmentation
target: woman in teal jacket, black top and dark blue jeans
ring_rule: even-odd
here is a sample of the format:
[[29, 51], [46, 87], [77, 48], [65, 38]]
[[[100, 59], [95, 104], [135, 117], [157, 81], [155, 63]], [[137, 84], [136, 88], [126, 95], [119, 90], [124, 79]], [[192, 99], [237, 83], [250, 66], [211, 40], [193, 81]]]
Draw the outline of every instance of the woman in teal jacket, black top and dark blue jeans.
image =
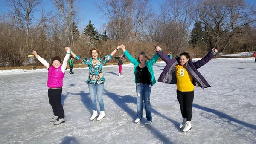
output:
[[150, 93], [151, 86], [156, 83], [154, 77], [153, 65], [157, 62], [159, 55], [157, 53], [152, 59], [148, 58], [145, 52], [140, 52], [138, 58], [133, 58], [127, 50], [125, 50], [125, 45], [121, 45], [124, 54], [134, 64], [134, 75], [137, 93], [137, 118], [134, 121], [138, 123], [142, 118], [142, 102], [145, 103], [146, 110], [146, 125], [152, 123], [151, 115], [151, 104], [150, 104]]

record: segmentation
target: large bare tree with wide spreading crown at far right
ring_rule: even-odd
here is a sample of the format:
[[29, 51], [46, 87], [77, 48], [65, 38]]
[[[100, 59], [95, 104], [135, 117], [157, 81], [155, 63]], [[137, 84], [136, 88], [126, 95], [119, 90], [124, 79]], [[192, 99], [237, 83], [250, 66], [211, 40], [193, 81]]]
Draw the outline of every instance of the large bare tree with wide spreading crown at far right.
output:
[[[223, 51], [236, 29], [256, 21], [256, 11], [244, 0], [200, 0], [196, 18], [214, 39], [214, 47]], [[224, 45], [220, 47], [220, 35], [227, 32]]]

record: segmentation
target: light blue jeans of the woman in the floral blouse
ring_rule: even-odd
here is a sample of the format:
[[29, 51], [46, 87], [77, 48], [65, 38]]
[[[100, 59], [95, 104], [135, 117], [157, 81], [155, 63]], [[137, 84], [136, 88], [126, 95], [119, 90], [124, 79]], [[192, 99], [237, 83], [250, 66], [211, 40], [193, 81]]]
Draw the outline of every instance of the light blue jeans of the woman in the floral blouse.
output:
[[96, 99], [98, 99], [100, 111], [104, 111], [104, 103], [102, 99], [104, 84], [88, 84], [88, 87], [93, 104], [93, 110], [97, 110]]

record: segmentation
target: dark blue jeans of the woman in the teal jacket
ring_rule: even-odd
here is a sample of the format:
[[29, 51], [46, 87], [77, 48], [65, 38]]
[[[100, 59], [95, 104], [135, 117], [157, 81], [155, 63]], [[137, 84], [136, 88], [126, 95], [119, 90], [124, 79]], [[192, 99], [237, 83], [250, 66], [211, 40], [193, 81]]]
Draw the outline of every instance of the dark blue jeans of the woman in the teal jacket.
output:
[[151, 84], [137, 83], [136, 93], [137, 93], [137, 118], [139, 119], [142, 118], [142, 102], [144, 101], [147, 121], [152, 121], [151, 104], [150, 104]]

